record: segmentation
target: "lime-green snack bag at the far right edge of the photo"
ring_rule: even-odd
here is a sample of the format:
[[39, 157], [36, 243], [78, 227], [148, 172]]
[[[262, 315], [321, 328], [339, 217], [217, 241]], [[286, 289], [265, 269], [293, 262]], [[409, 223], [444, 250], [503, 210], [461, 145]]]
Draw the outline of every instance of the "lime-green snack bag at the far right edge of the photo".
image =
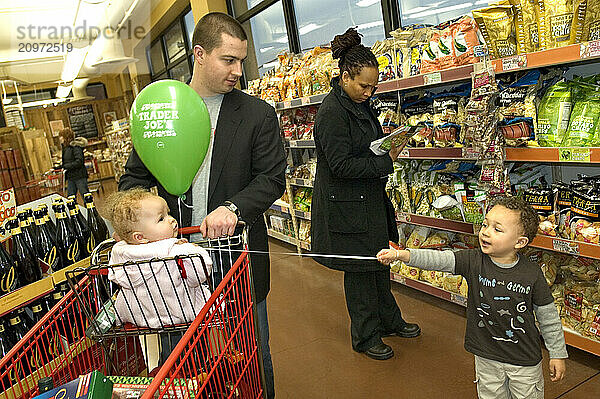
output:
[[571, 112], [564, 147], [589, 147], [598, 142], [596, 130], [600, 125], [600, 93], [585, 90], [578, 93]]

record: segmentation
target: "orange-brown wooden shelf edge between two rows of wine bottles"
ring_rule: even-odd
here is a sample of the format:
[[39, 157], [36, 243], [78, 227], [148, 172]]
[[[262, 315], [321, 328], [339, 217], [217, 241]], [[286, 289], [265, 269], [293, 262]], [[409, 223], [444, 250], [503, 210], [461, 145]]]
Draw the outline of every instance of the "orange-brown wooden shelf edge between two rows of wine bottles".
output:
[[89, 265], [90, 258], [88, 257], [62, 270], [49, 274], [41, 280], [3, 295], [0, 297], [0, 317], [50, 294], [58, 284], [66, 280], [65, 273], [68, 270], [73, 270], [77, 267], [85, 268]]

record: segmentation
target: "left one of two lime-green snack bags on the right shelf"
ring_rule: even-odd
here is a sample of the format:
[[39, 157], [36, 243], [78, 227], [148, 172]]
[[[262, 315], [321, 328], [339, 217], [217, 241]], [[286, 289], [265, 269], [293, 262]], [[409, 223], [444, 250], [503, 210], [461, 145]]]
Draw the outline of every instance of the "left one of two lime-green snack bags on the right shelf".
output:
[[536, 136], [541, 146], [558, 146], [569, 127], [571, 116], [571, 88], [565, 82], [550, 87], [538, 110]]

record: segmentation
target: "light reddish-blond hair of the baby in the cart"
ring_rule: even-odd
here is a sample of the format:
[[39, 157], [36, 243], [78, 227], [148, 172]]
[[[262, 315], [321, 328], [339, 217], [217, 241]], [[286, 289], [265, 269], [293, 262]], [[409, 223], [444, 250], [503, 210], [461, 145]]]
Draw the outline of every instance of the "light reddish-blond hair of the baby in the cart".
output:
[[155, 195], [141, 187], [117, 191], [108, 196], [102, 213], [122, 240], [130, 241], [131, 233], [135, 231], [135, 226], [139, 221], [140, 201], [151, 197], [155, 197]]

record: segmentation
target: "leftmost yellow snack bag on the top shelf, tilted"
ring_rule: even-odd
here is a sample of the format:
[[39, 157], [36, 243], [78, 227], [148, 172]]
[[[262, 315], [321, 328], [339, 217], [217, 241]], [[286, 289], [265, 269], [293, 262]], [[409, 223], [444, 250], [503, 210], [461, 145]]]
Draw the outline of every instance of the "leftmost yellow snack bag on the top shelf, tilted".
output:
[[517, 54], [517, 40], [512, 6], [496, 5], [473, 11], [473, 18], [492, 58], [510, 57]]

